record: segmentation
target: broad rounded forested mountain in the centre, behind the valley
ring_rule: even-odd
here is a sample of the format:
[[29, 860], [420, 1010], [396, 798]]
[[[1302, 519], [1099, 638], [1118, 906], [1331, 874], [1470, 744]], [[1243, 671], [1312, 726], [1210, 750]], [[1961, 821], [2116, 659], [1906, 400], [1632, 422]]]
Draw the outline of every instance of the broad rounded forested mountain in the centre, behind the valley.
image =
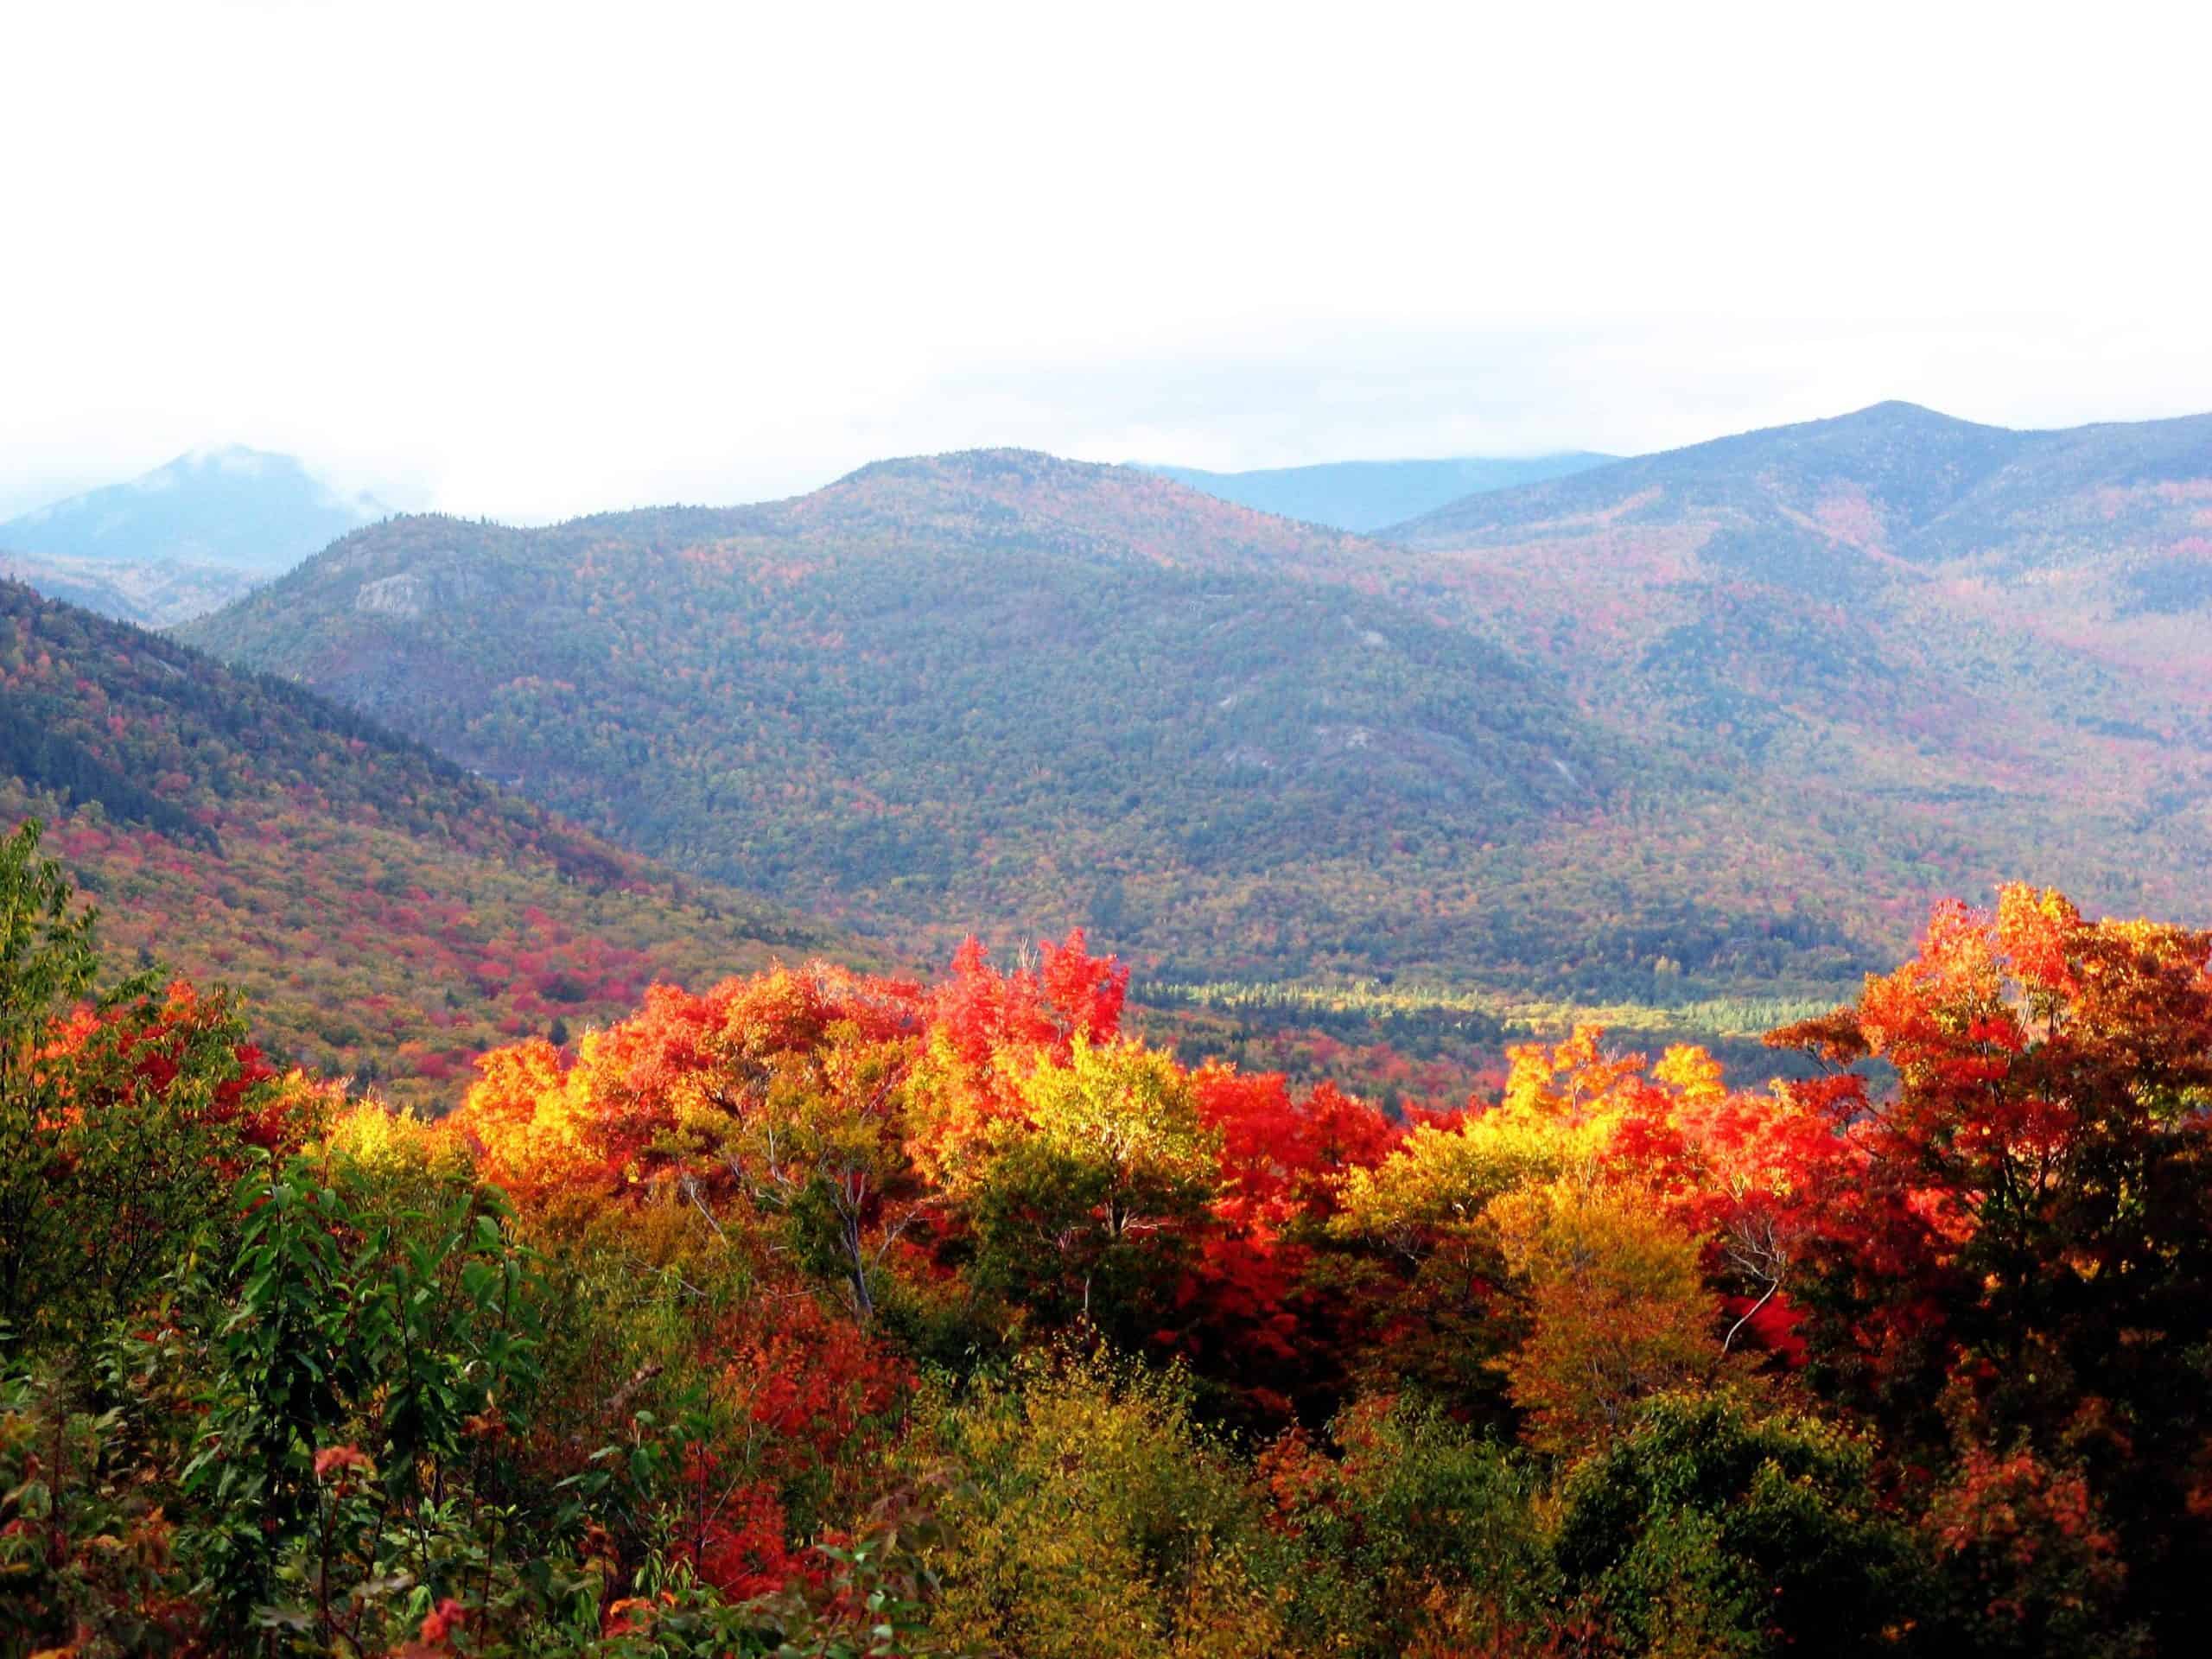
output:
[[984, 451], [748, 509], [394, 520], [188, 637], [918, 951], [1084, 922], [1155, 978], [1790, 993], [1986, 878], [1958, 825], [1593, 721], [1438, 597], [1396, 549]]

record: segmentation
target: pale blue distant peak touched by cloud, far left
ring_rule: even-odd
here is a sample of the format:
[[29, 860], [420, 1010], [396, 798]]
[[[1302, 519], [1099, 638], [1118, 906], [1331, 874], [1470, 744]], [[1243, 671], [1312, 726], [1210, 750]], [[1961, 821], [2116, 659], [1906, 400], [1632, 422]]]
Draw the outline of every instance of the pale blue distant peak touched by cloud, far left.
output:
[[195, 449], [150, 473], [0, 522], [0, 549], [102, 564], [212, 564], [268, 577], [385, 518], [292, 456]]

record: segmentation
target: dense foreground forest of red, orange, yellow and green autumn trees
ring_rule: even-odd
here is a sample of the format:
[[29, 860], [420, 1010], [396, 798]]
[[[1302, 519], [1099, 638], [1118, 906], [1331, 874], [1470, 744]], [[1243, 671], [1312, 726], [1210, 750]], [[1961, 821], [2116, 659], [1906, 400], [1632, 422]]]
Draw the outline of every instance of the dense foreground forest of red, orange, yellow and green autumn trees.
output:
[[425, 1121], [97, 927], [0, 847], [9, 1659], [2212, 1613], [2205, 931], [2011, 887], [1772, 1031], [1796, 1079], [1579, 1029], [1396, 1113], [1133, 1037], [1079, 933], [794, 962], [489, 1048]]

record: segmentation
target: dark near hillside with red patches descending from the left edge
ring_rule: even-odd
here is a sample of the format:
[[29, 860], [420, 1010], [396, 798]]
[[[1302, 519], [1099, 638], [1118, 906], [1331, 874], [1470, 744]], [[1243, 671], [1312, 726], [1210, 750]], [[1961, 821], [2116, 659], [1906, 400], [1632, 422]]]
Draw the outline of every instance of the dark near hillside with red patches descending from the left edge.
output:
[[299, 686], [0, 582], [0, 825], [24, 816], [111, 947], [241, 987], [276, 1055], [400, 1102], [653, 980], [852, 956]]

